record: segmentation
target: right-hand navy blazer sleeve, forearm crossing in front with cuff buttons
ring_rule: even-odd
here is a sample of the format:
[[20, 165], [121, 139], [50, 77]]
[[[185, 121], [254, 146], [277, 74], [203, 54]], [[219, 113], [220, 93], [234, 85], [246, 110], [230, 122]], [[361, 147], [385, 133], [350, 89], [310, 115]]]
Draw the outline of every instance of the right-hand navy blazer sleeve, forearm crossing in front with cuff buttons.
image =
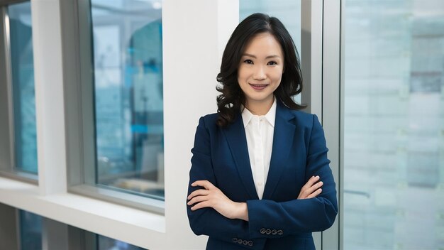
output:
[[278, 238], [289, 234], [323, 231], [331, 227], [338, 214], [338, 202], [327, 151], [322, 126], [317, 116], [313, 115], [305, 181], [307, 182], [311, 176], [319, 175], [323, 181], [321, 195], [287, 202], [248, 200], [251, 237]]

